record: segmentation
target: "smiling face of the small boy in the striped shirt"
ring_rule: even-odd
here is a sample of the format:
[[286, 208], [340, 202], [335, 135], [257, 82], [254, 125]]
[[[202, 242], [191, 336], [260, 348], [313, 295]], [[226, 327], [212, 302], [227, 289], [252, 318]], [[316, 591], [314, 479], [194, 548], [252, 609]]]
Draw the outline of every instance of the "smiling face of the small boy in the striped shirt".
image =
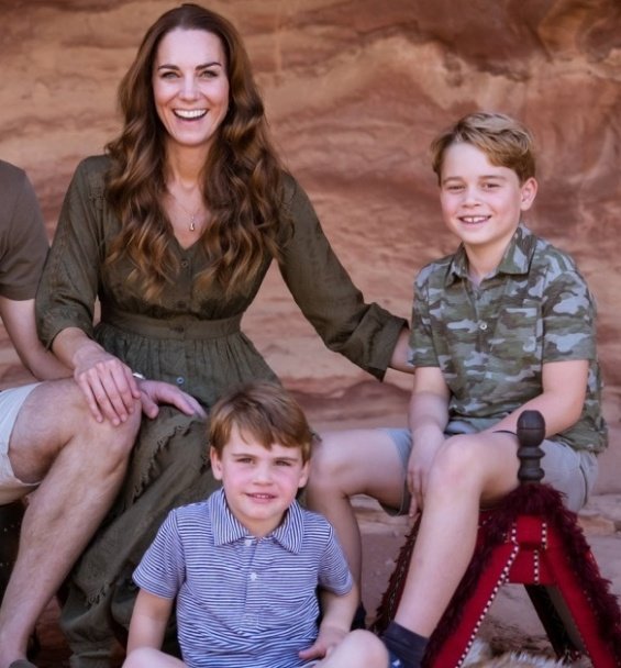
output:
[[275, 443], [268, 450], [235, 426], [222, 457], [211, 449], [211, 466], [232, 513], [255, 537], [280, 524], [309, 474], [301, 448]]

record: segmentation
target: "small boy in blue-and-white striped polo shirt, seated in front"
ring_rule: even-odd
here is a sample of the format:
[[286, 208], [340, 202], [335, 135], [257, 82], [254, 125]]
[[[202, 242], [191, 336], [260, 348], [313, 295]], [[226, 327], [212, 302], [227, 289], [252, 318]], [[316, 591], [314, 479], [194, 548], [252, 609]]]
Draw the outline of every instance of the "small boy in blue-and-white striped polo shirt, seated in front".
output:
[[[124, 667], [314, 665], [348, 631], [357, 592], [332, 526], [296, 501], [304, 414], [282, 388], [251, 383], [215, 404], [209, 439], [222, 489], [171, 511], [136, 568]], [[184, 661], [159, 650], [175, 599]]]

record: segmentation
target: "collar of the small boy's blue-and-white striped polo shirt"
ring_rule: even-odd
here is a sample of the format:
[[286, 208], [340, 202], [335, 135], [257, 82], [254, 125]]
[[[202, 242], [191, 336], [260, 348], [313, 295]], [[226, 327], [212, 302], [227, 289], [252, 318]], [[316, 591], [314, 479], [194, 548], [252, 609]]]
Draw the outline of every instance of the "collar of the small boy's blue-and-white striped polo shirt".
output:
[[[222, 488], [213, 492], [208, 502], [215, 545], [234, 543], [249, 536], [248, 530], [231, 512]], [[297, 554], [302, 547], [303, 525], [303, 511], [300, 504], [293, 501], [282, 522], [267, 537], [274, 538], [285, 549]]]

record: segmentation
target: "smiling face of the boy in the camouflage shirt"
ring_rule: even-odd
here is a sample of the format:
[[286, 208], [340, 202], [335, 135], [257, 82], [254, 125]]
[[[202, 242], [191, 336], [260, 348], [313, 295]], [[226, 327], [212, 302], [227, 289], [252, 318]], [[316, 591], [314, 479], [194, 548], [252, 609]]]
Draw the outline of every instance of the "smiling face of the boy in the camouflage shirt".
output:
[[492, 165], [473, 144], [452, 144], [444, 154], [440, 203], [448, 230], [477, 254], [489, 252], [500, 260], [522, 211], [531, 208], [536, 181], [520, 185], [508, 167]]

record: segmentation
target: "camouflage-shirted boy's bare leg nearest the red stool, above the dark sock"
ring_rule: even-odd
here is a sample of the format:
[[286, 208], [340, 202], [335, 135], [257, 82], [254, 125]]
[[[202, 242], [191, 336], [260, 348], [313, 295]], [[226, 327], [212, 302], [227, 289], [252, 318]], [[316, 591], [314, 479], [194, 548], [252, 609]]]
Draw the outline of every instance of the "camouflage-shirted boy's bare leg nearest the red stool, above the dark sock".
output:
[[472, 559], [480, 504], [518, 485], [515, 453], [513, 436], [485, 433], [454, 436], [436, 455], [398, 624], [431, 635]]

